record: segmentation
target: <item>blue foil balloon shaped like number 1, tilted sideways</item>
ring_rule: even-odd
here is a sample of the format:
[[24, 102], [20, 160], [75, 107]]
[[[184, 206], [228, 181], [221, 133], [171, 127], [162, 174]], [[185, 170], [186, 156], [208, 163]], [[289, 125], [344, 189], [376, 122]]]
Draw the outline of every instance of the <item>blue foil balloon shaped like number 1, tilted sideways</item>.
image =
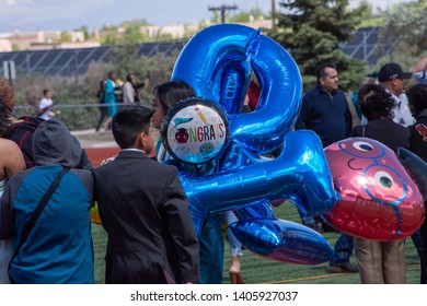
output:
[[[255, 202], [292, 199], [305, 215], [328, 211], [338, 200], [319, 137], [309, 130], [289, 132], [280, 156], [205, 177], [182, 173], [193, 220]], [[254, 215], [259, 216], [259, 215]]]

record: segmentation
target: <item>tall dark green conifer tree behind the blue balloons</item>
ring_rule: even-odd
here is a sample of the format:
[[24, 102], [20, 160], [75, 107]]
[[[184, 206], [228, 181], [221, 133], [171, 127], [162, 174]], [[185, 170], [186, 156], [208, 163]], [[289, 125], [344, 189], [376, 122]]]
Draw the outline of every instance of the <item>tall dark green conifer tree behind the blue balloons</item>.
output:
[[336, 64], [344, 91], [360, 83], [363, 62], [345, 55], [339, 44], [351, 37], [368, 10], [366, 3], [349, 10], [348, 0], [281, 0], [279, 7], [278, 24], [267, 34], [292, 55], [305, 89], [314, 86], [315, 67], [325, 61]]

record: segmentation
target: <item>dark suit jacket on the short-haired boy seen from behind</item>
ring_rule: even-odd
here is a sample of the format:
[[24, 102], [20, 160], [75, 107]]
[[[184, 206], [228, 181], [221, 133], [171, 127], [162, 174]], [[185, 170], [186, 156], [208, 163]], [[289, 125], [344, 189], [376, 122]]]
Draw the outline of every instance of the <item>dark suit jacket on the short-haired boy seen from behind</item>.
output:
[[177, 169], [122, 151], [94, 170], [107, 232], [106, 283], [182, 283], [199, 276], [198, 242]]

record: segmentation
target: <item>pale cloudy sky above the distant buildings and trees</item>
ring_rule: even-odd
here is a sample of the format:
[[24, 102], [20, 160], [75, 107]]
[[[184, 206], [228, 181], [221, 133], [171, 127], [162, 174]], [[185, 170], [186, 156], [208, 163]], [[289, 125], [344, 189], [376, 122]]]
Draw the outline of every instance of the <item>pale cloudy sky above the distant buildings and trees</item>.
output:
[[[350, 0], [350, 5], [357, 7], [359, 1]], [[381, 9], [407, 1], [411, 0], [368, 0]], [[209, 7], [222, 4], [236, 5], [239, 10], [233, 12], [253, 8], [267, 14], [272, 11], [272, 0], [0, 0], [0, 33], [71, 31], [82, 25], [92, 31], [135, 19], [159, 26], [197, 23], [214, 16]]]

